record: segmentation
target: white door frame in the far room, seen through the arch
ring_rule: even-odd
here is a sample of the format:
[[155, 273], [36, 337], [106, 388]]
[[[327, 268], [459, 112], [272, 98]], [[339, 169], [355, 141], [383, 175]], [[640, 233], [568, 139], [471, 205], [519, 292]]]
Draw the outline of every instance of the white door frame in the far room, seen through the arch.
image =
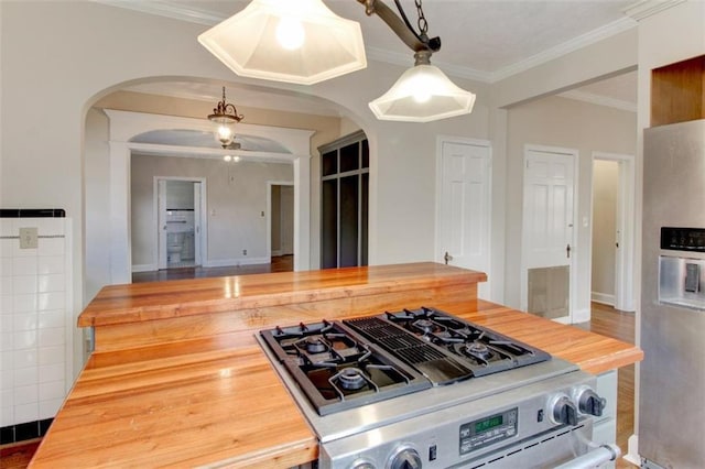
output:
[[[208, 225], [206, 223], [206, 178], [205, 177], [178, 177], [178, 176], [154, 176], [154, 188], [152, 195], [152, 233], [153, 246], [156, 247], [155, 252], [152, 254], [152, 264], [156, 265], [156, 269], [166, 269], [166, 237], [162, 236], [164, 230], [161, 227], [160, 220], [160, 181], [187, 181], [191, 183], [200, 183], [200, 197], [199, 197], [199, 206], [194, 207], [197, 208], [194, 212], [194, 252], [196, 253], [196, 265], [203, 264], [204, 259], [208, 259], [208, 243], [205, 240], [208, 239]], [[195, 201], [195, 200], [194, 200]], [[197, 219], [196, 219], [197, 216]]]

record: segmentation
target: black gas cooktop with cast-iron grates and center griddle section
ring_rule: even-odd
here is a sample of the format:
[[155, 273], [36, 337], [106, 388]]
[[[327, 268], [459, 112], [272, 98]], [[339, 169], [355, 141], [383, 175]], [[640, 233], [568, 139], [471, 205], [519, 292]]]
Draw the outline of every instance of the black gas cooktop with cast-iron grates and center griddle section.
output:
[[260, 335], [319, 415], [551, 358], [427, 307]]

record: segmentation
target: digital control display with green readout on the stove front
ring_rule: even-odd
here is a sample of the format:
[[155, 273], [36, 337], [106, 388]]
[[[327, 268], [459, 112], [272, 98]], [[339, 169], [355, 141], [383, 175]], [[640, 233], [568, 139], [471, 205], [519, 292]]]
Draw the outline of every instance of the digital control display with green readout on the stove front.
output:
[[460, 425], [460, 456], [517, 435], [519, 410], [510, 408]]

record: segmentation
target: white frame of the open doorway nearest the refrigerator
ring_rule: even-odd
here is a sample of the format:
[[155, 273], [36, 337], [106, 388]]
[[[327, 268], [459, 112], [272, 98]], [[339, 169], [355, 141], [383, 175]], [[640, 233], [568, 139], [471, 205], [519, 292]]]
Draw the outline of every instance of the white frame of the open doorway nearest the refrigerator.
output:
[[[596, 160], [614, 161], [619, 166], [616, 228], [620, 233], [620, 249], [615, 258], [615, 308], [633, 312], [634, 302], [634, 156], [618, 153], [593, 152]], [[593, 166], [592, 166], [593, 167]], [[594, 179], [590, 176], [590, 214], [593, 212]], [[590, 230], [589, 259], [593, 259], [593, 230]], [[590, 288], [592, 293], [592, 288]]]

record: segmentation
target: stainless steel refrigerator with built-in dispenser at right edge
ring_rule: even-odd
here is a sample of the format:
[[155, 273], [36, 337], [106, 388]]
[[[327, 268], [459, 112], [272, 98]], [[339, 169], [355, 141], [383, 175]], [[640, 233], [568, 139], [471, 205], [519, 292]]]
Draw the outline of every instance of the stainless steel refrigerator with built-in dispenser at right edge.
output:
[[705, 120], [644, 131], [639, 452], [705, 467]]

